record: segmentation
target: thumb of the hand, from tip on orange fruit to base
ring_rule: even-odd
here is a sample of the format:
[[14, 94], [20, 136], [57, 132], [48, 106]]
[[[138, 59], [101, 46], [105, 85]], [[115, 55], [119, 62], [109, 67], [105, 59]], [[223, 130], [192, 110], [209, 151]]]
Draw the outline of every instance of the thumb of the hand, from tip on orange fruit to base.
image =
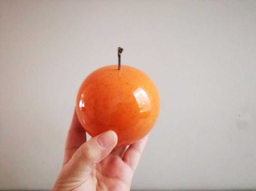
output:
[[116, 146], [117, 135], [107, 131], [82, 144], [74, 153], [70, 161], [63, 167], [54, 185], [56, 190], [71, 190], [90, 175], [91, 169], [102, 161]]

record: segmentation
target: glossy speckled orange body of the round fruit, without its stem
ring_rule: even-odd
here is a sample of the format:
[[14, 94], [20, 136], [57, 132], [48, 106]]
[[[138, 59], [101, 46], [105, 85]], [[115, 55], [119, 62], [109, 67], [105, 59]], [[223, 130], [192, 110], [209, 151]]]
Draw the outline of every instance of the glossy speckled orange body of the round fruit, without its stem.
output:
[[137, 68], [109, 65], [95, 70], [82, 83], [76, 112], [92, 137], [107, 130], [118, 136], [117, 146], [130, 145], [153, 128], [160, 98], [153, 81]]

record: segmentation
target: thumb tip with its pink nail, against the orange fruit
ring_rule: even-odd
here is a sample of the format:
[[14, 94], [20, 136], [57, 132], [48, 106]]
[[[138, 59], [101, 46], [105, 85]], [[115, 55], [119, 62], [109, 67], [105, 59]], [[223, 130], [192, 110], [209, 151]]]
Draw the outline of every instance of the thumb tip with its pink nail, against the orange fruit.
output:
[[116, 141], [116, 134], [113, 131], [107, 131], [100, 134], [97, 137], [96, 141], [102, 149], [105, 149]]

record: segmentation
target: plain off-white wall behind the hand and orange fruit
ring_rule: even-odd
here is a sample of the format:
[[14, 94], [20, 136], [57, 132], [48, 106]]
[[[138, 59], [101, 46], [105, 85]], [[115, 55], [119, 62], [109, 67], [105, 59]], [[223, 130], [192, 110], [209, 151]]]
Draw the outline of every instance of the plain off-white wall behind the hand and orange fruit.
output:
[[0, 189], [51, 189], [118, 46], [162, 103], [132, 188], [256, 188], [255, 34], [256, 1], [0, 1]]

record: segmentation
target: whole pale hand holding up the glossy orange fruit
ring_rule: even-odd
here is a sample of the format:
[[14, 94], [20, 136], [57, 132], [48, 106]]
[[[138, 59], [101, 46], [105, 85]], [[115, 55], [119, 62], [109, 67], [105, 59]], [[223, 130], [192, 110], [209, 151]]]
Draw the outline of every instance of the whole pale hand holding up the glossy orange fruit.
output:
[[107, 131], [86, 142], [74, 111], [63, 167], [53, 190], [129, 191], [147, 139], [148, 135], [126, 149], [116, 147], [117, 135]]

